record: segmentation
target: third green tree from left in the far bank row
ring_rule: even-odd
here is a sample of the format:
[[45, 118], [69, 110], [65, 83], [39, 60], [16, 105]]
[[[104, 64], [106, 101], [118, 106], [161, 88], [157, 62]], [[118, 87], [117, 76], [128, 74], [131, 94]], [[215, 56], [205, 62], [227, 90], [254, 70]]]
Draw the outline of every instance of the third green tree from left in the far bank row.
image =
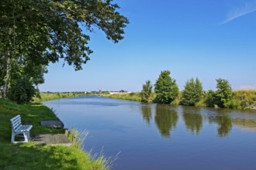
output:
[[202, 98], [202, 83], [198, 78], [191, 78], [185, 83], [185, 89], [182, 92], [182, 104], [186, 106], [195, 106]]

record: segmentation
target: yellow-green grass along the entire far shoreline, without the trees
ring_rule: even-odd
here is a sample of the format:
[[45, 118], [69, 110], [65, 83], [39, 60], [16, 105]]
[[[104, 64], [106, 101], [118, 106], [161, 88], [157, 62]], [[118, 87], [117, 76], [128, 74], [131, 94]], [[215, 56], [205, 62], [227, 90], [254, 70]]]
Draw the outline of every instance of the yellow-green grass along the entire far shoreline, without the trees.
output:
[[[185, 105], [182, 104], [182, 93], [183, 91], [178, 92], [178, 97], [175, 98], [171, 102], [171, 105]], [[196, 107], [218, 107], [216, 105], [209, 106], [207, 102], [209, 102], [209, 91], [203, 91], [202, 97], [200, 100], [195, 104]], [[236, 107], [233, 109], [237, 110], [256, 110], [256, 90], [252, 89], [243, 89], [243, 90], [233, 90], [233, 102]], [[142, 100], [142, 93], [141, 92], [132, 92], [132, 93], [113, 93], [110, 94], [109, 91], [104, 91], [99, 93], [99, 91], [92, 91], [89, 93], [85, 92], [62, 92], [62, 93], [53, 93], [53, 92], [45, 92], [40, 93], [39, 97], [33, 98], [33, 103], [40, 103], [42, 101], [47, 100], [56, 100], [61, 98], [68, 98], [68, 97], [82, 97], [82, 96], [101, 96], [101, 97], [109, 97], [115, 99], [122, 99], [122, 100], [133, 100], [137, 102], [143, 102]], [[157, 94], [153, 91], [150, 93], [149, 99], [147, 104], [156, 104], [157, 101], [155, 100]]]

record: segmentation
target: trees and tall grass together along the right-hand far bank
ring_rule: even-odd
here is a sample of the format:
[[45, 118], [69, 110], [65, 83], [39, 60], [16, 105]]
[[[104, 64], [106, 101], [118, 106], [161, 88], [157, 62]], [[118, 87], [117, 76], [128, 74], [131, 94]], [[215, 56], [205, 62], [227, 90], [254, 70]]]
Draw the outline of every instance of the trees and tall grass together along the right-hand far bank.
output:
[[[102, 92], [102, 96], [140, 101], [144, 104], [171, 104], [196, 107], [220, 107], [238, 110], [256, 110], [256, 90], [232, 90], [228, 80], [216, 79], [216, 90], [203, 90], [199, 78], [185, 82], [184, 90], [178, 90], [176, 80], [170, 76], [171, 71], [161, 71], [158, 79], [151, 84], [147, 80], [142, 90], [137, 93]], [[154, 89], [154, 90], [153, 90]]]

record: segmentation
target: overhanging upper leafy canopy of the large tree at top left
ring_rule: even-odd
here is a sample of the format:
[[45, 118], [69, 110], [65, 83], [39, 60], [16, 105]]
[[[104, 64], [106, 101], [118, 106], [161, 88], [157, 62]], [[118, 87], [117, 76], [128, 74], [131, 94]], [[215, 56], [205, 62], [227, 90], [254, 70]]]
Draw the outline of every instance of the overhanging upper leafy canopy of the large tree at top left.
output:
[[63, 58], [76, 70], [81, 70], [92, 53], [90, 37], [81, 26], [89, 32], [102, 29], [107, 39], [119, 42], [128, 23], [111, 0], [2, 0], [0, 7], [0, 26], [11, 30], [5, 36], [16, 39], [16, 49], [26, 53], [27, 59], [48, 64]]

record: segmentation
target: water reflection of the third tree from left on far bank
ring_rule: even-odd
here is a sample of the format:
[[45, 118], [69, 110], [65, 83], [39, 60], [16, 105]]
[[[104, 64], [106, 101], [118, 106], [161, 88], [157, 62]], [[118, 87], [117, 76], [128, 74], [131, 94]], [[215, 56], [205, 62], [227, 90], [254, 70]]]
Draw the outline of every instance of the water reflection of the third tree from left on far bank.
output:
[[194, 134], [199, 134], [202, 129], [202, 115], [199, 107], [183, 107], [185, 127]]

